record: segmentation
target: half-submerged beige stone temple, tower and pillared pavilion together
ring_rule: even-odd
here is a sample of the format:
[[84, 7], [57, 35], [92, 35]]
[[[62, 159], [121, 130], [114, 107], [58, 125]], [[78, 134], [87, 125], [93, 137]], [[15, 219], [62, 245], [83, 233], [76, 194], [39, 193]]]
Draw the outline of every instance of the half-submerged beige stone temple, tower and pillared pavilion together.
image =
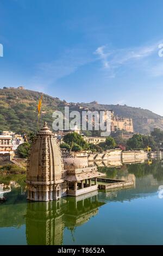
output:
[[54, 133], [45, 122], [37, 132], [27, 163], [27, 199], [57, 200], [64, 196], [80, 196], [98, 190], [97, 178], [104, 174], [86, 159], [62, 159]]

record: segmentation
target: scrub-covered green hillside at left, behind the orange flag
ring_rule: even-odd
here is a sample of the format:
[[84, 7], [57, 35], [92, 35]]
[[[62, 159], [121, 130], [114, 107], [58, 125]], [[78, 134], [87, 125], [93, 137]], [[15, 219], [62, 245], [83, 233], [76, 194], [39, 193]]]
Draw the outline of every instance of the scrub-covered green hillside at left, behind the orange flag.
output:
[[37, 103], [43, 95], [40, 123], [52, 125], [52, 113], [62, 110], [62, 101], [32, 90], [0, 89], [0, 130], [36, 131]]

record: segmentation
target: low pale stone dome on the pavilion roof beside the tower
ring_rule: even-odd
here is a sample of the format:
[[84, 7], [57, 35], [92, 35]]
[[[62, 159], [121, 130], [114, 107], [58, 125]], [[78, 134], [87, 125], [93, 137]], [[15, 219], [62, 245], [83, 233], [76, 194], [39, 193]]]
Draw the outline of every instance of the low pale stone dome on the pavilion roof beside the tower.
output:
[[87, 157], [66, 157], [64, 159], [64, 169], [72, 170], [88, 166]]

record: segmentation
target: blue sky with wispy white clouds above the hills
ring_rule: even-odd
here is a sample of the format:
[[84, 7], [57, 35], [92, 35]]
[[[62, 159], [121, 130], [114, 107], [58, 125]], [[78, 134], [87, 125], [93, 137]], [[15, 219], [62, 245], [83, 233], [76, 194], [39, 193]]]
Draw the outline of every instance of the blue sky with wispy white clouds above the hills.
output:
[[0, 88], [163, 115], [162, 10], [162, 0], [0, 0]]

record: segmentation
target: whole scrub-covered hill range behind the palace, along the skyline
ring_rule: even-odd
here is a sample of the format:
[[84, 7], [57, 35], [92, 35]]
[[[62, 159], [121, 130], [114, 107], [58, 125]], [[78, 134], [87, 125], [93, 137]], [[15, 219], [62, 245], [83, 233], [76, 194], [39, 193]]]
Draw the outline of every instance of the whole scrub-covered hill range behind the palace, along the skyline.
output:
[[[27, 89], [0, 89], [0, 130], [16, 132], [35, 131], [37, 125], [37, 102], [43, 95], [41, 121], [52, 125], [52, 113], [55, 110], [64, 112], [65, 101], [44, 93]], [[75, 103], [71, 103], [71, 106]], [[126, 105], [104, 105], [96, 101], [77, 103], [78, 106], [91, 109], [113, 109], [115, 115], [133, 119], [134, 131], [148, 134], [154, 127], [163, 130], [163, 118], [148, 109], [128, 107]], [[73, 106], [74, 109], [75, 106]]]

